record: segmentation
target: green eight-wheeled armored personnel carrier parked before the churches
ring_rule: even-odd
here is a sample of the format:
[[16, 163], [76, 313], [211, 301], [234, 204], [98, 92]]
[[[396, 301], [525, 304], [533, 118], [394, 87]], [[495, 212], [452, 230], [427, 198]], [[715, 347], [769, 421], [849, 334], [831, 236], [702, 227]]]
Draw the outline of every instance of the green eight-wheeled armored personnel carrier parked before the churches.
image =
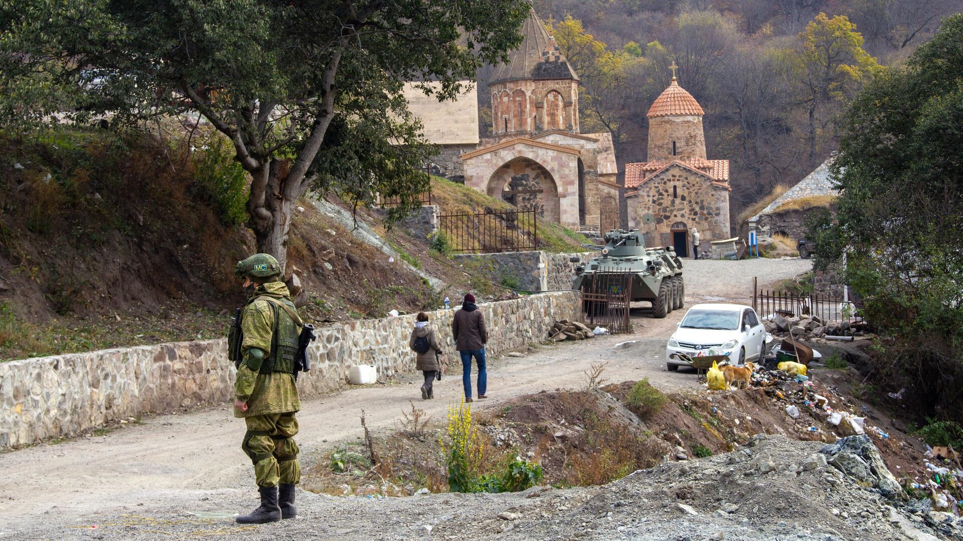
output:
[[[591, 290], [597, 273], [611, 276], [611, 272], [631, 272], [631, 300], [651, 302], [652, 317], [664, 318], [672, 310], [682, 308], [686, 301], [686, 284], [682, 277], [682, 260], [672, 246], [646, 248], [638, 229], [613, 229], [606, 233], [604, 246], [586, 247], [601, 250], [602, 254], [575, 269], [572, 289]], [[618, 284], [606, 287], [622, 288]]]

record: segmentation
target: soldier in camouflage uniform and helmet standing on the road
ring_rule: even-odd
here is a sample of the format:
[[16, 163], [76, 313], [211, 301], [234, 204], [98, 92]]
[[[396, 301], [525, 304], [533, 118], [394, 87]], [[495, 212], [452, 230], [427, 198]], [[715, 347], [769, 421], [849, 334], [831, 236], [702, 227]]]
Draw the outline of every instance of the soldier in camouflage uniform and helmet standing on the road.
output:
[[261, 524], [296, 515], [295, 485], [300, 480], [295, 413], [300, 409], [294, 361], [302, 322], [280, 265], [258, 253], [237, 264], [244, 287], [254, 287], [241, 318], [242, 362], [234, 382], [234, 416], [244, 418], [241, 448], [254, 464], [261, 505], [241, 524]]

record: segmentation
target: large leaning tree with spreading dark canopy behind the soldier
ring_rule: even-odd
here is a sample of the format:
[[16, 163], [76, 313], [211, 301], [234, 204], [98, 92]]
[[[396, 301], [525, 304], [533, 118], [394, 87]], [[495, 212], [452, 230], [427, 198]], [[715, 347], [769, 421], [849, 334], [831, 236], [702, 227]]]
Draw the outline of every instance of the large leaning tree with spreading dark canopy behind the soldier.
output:
[[250, 173], [247, 225], [286, 261], [310, 189], [412, 206], [429, 151], [404, 81], [454, 98], [520, 42], [524, 0], [0, 0], [0, 116], [203, 116]]

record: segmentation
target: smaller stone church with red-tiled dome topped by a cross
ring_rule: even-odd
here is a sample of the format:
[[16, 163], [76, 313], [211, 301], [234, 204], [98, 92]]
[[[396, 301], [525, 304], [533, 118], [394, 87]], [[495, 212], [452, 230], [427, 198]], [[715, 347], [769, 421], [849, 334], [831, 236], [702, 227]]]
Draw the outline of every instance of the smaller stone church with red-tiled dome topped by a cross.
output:
[[652, 103], [648, 161], [625, 165], [625, 200], [629, 227], [644, 235], [645, 245], [674, 245], [691, 255], [691, 229], [698, 228], [703, 247], [730, 237], [729, 161], [706, 159], [702, 107], [672, 82]]

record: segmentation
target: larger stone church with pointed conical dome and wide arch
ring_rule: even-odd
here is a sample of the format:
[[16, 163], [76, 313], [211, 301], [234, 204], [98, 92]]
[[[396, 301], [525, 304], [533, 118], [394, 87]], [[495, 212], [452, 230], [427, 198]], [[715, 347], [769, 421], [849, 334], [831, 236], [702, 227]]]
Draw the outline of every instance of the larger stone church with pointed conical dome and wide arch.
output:
[[572, 229], [617, 227], [612, 134], [580, 132], [579, 76], [534, 10], [522, 34], [489, 81], [494, 133], [460, 154], [464, 183]]

